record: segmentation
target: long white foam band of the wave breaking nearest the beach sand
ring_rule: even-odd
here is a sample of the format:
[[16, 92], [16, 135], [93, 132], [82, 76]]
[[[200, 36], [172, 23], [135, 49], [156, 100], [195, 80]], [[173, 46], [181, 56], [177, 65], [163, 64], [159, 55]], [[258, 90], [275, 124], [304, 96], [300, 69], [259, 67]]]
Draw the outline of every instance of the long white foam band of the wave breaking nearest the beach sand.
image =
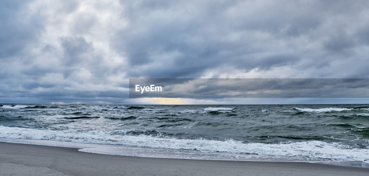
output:
[[149, 135], [122, 135], [122, 131], [36, 130], [0, 126], [0, 137], [70, 141], [89, 144], [129, 145], [137, 147], [196, 149], [199, 151], [301, 156], [309, 158], [369, 161], [369, 149], [350, 148], [342, 143], [305, 141], [284, 144], [242, 143], [240, 141], [189, 140], [153, 137]]

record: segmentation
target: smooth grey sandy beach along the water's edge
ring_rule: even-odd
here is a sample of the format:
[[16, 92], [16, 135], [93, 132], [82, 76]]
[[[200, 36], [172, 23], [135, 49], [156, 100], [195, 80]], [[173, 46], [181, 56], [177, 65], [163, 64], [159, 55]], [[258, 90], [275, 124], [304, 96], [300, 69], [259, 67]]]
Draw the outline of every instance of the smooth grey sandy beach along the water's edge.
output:
[[141, 158], [0, 142], [0, 175], [368, 175], [367, 168], [306, 162]]

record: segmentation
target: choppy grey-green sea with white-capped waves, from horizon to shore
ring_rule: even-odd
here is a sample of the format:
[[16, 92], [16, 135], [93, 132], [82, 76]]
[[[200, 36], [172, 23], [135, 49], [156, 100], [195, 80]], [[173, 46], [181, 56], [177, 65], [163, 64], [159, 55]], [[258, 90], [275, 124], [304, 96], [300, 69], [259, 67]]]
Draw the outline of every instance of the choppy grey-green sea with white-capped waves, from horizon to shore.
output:
[[0, 104], [0, 141], [111, 155], [368, 167], [369, 105]]

